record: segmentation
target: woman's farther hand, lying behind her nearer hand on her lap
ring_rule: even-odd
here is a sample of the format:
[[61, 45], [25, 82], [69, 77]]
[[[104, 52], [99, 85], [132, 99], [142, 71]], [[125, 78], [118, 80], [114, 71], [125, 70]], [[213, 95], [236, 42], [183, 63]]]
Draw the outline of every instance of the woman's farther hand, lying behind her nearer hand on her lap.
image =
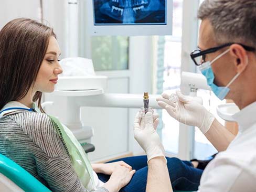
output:
[[94, 169], [94, 171], [96, 173], [103, 173], [105, 175], [111, 175], [114, 172], [114, 170], [116, 168], [118, 168], [119, 166], [123, 166], [123, 167], [129, 169], [129, 171], [132, 170], [132, 167], [123, 161], [114, 162], [114, 163], [96, 164], [96, 165], [93, 165], [93, 168], [97, 167], [96, 169]]

